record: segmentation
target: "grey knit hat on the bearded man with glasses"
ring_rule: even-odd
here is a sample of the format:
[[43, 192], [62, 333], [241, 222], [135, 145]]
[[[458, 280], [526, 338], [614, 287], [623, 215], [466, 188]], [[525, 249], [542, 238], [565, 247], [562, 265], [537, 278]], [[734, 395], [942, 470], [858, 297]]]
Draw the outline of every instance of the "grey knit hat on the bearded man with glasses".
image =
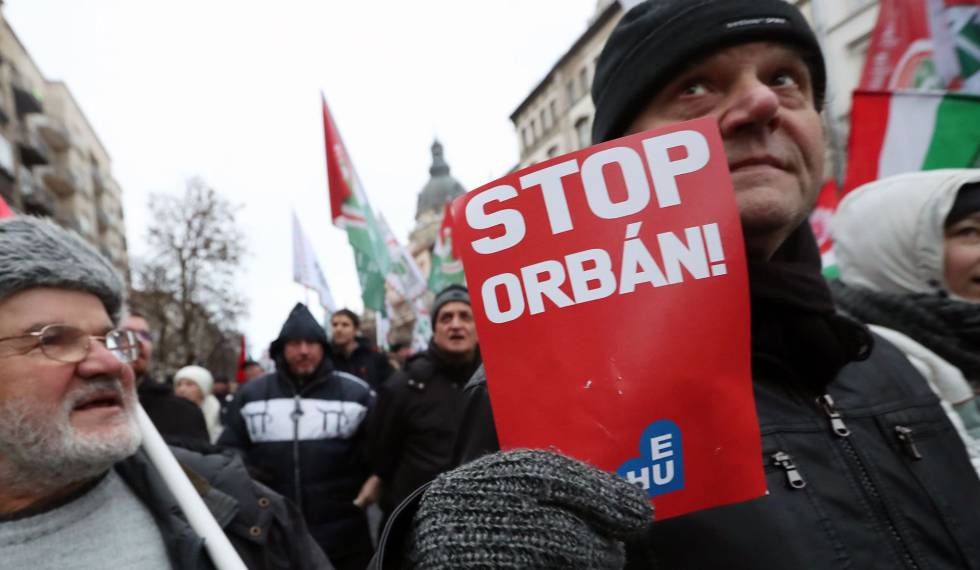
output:
[[36, 287], [91, 293], [119, 320], [123, 281], [91, 245], [46, 219], [0, 220], [0, 300]]

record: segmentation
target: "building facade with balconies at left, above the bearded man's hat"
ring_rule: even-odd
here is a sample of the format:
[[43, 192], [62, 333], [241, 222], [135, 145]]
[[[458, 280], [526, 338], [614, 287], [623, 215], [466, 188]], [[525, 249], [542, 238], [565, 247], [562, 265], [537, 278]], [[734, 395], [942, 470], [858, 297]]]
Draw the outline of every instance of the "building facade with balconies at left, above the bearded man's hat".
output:
[[42, 75], [0, 12], [0, 195], [17, 212], [75, 230], [128, 275], [111, 166], [68, 87]]

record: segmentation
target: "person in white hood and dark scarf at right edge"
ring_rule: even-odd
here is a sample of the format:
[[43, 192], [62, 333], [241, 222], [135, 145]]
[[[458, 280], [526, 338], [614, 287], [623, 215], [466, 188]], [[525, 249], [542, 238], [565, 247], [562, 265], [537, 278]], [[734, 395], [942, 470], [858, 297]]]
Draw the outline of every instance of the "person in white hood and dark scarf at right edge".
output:
[[980, 170], [913, 172], [848, 194], [831, 224], [838, 305], [887, 338], [955, 410], [980, 468]]

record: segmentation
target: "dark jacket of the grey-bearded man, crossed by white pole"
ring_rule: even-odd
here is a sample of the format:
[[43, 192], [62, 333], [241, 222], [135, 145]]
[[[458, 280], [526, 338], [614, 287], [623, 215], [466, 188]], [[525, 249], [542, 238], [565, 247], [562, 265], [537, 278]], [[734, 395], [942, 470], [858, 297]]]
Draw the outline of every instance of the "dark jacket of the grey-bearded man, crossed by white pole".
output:
[[[251, 570], [330, 570], [294, 506], [249, 478], [241, 459], [172, 448], [191, 482]], [[150, 509], [170, 563], [182, 570], [211, 570], [204, 541], [181, 513], [177, 500], [143, 450], [117, 463], [116, 472]]]

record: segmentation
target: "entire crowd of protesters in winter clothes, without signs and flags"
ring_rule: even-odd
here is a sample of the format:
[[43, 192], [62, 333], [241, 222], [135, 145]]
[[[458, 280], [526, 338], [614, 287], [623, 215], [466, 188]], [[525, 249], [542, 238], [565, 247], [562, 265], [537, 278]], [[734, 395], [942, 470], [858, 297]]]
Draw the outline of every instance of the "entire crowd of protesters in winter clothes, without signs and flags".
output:
[[592, 86], [596, 144], [717, 119], [762, 448], [789, 450], [803, 485], [777, 473], [765, 497], [653, 523], [623, 479], [500, 451], [458, 285], [417, 354], [385, 355], [347, 309], [328, 334], [297, 304], [274, 370], [247, 362], [232, 393], [191, 365], [171, 386], [111, 265], [18, 217], [0, 221], [0, 567], [212, 567], [140, 447], [138, 401], [248, 568], [980, 568], [980, 171], [853, 191], [828, 284], [807, 222], [825, 86], [782, 0], [642, 2]]

